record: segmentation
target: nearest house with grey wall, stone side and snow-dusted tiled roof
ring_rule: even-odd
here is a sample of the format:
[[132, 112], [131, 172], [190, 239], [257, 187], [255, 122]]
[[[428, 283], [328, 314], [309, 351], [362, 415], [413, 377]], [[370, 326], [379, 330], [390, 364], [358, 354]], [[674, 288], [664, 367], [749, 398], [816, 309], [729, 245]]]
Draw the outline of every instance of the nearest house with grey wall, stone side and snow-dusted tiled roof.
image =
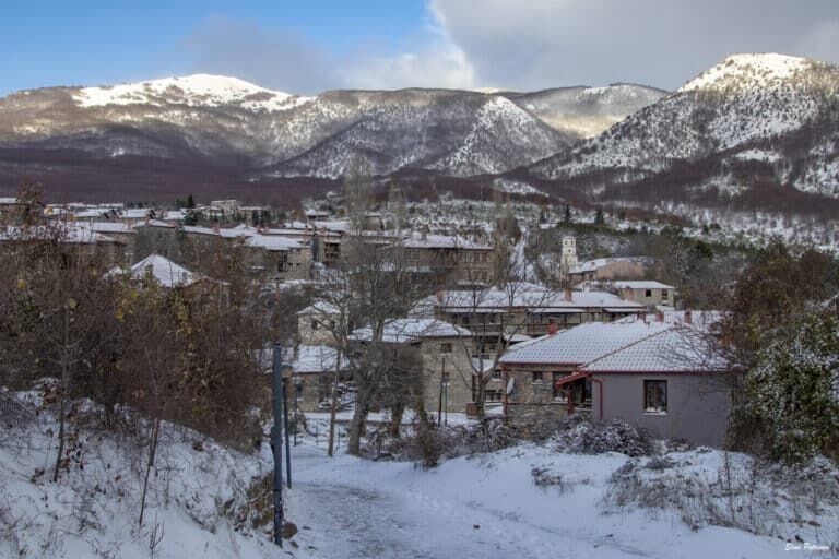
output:
[[714, 320], [716, 313], [658, 313], [522, 344], [500, 359], [505, 415], [531, 423], [581, 413], [722, 445], [731, 376], [705, 335]]

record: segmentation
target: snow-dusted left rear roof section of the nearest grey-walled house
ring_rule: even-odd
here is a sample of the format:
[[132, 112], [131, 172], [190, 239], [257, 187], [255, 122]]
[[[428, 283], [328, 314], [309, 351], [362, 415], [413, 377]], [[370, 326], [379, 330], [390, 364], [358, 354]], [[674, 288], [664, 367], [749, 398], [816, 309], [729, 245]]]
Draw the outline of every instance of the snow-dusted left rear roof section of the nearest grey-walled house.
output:
[[[695, 312], [690, 325], [685, 322], [684, 313], [664, 314], [661, 321], [628, 317], [616, 322], [589, 322], [513, 346], [500, 358], [500, 362], [580, 367], [672, 329], [685, 328], [695, 332], [707, 330], [716, 317], [716, 313], [706, 316]], [[651, 345], [642, 347], [649, 348]], [[638, 359], [637, 356], [641, 354], [631, 355]]]

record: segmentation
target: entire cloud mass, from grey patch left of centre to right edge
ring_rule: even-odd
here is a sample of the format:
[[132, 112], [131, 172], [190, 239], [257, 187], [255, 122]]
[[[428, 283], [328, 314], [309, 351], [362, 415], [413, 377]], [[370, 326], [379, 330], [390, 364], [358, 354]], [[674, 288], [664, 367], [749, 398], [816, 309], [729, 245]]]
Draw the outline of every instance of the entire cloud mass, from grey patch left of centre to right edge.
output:
[[837, 0], [428, 0], [427, 9], [418, 35], [400, 48], [338, 55], [287, 29], [217, 19], [196, 28], [180, 53], [189, 71], [302, 94], [613, 82], [675, 88], [734, 52], [839, 62]]

